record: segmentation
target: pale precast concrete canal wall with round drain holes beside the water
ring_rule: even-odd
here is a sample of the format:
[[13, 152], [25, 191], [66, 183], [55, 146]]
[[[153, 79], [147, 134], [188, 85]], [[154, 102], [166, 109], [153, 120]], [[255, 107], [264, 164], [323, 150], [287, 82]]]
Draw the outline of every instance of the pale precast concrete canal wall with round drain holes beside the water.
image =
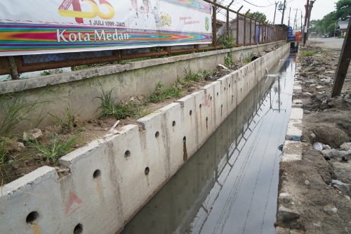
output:
[[3, 186], [0, 233], [118, 233], [287, 53], [284, 44], [138, 119], [142, 129], [128, 125], [69, 153], [65, 176], [41, 167]]

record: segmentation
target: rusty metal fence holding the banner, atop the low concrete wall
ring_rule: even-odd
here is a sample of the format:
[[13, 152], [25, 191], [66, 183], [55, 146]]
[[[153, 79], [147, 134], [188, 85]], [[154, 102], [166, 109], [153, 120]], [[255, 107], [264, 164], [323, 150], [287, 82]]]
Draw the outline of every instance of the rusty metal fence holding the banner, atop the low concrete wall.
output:
[[[177, 53], [200, 52], [263, 44], [272, 41], [286, 39], [287, 32], [282, 28], [267, 25], [246, 15], [233, 11], [213, 1], [212, 4], [212, 27], [213, 41], [211, 44], [181, 45], [181, 46], [157, 46], [152, 48], [133, 48], [109, 51], [86, 51], [74, 53], [48, 53], [39, 55], [5, 56], [0, 57], [0, 74], [11, 74], [11, 79], [19, 79], [20, 73], [34, 72], [39, 70], [51, 70], [61, 67], [73, 67], [79, 65], [123, 63], [124, 60], [134, 58], [148, 58], [157, 56], [171, 56]], [[226, 12], [225, 29], [218, 35], [217, 13]], [[219, 43], [218, 37], [222, 37], [231, 44]]]

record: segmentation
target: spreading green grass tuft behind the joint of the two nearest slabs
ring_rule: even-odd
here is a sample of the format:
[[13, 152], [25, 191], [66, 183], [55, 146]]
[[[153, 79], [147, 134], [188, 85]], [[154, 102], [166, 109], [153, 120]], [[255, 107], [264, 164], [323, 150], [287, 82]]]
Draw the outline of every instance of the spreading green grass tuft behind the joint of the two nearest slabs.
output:
[[79, 135], [72, 136], [70, 138], [60, 138], [58, 134], [50, 135], [50, 144], [43, 145], [38, 141], [34, 141], [31, 144], [41, 153], [46, 156], [46, 162], [58, 164], [58, 159], [63, 155], [67, 154], [72, 146], [77, 142]]

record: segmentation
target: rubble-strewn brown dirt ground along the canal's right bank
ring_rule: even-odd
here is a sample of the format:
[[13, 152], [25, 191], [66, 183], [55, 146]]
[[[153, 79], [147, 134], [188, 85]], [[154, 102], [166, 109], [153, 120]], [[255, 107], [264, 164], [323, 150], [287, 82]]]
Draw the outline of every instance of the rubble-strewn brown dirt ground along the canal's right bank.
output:
[[277, 233], [351, 233], [351, 151], [342, 145], [351, 139], [350, 67], [341, 95], [330, 98], [340, 49], [318, 41], [300, 48], [302, 91], [293, 100], [303, 104], [303, 155], [281, 163], [279, 205], [286, 211], [277, 216]]

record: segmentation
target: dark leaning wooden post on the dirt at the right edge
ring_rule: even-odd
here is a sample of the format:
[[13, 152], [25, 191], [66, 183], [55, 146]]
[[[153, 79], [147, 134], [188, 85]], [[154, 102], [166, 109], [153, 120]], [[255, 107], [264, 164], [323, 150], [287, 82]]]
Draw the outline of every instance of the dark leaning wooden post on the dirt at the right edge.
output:
[[333, 89], [331, 89], [331, 97], [339, 96], [343, 89], [347, 69], [350, 65], [351, 59], [351, 33], [350, 33], [351, 20], [347, 26], [346, 37], [344, 39], [343, 48], [341, 49], [338, 68], [336, 69], [336, 76], [333, 82]]

